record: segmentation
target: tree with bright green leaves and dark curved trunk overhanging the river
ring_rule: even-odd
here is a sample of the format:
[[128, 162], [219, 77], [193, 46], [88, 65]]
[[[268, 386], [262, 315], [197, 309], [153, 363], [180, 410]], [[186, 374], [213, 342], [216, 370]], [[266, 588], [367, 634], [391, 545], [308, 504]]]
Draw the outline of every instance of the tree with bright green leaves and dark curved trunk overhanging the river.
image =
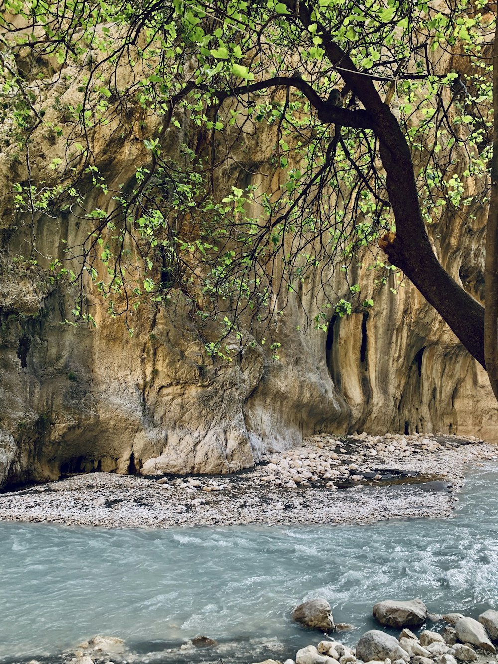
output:
[[[88, 224], [84, 242], [50, 266], [78, 285], [76, 318], [89, 274], [112, 315], [174, 290], [228, 333], [242, 314], [276, 313], [276, 296], [311, 271], [337, 256], [353, 264], [378, 244], [381, 269], [402, 270], [487, 367], [498, 398], [498, 46], [492, 56], [484, 0], [5, 0], [0, 29], [5, 112], [29, 173], [15, 184], [17, 210], [32, 220], [71, 210]], [[56, 100], [54, 123], [46, 90], [64, 80], [79, 97]], [[111, 191], [92, 135], [118, 120], [127, 140], [140, 117], [149, 160]], [[56, 183], [31, 176], [41, 127], [64, 143], [50, 164]], [[228, 179], [220, 200], [217, 174], [268, 127], [280, 186]], [[94, 188], [112, 206], [88, 209]], [[485, 314], [436, 258], [426, 225], [463, 220], [490, 195]], [[131, 247], [147, 273], [139, 286]]]

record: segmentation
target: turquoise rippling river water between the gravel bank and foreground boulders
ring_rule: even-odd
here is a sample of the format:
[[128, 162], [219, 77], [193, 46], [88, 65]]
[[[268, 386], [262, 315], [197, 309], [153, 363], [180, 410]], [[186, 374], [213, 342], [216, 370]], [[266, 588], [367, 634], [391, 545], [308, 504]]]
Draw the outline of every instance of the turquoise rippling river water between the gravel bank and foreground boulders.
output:
[[51, 657], [96, 633], [144, 657], [199, 633], [226, 644], [216, 657], [164, 661], [250, 662], [265, 639], [288, 657], [319, 638], [290, 618], [316, 596], [355, 625], [341, 635], [349, 643], [386, 598], [477, 617], [498, 608], [497, 471], [472, 469], [446, 520], [162, 531], [0, 522], [0, 662]]

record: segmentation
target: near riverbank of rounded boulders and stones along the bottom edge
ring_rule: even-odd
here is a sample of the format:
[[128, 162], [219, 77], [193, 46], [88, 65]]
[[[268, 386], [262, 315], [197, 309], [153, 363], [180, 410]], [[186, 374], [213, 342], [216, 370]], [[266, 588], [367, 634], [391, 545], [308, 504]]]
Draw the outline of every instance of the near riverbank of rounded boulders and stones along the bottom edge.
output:
[[[250, 655], [241, 657], [242, 644], [218, 643], [205, 635], [146, 653], [137, 652], [124, 639], [96, 635], [60, 655], [25, 660], [23, 664], [230, 664], [234, 655], [237, 662], [252, 664], [497, 664], [498, 611], [489, 609], [477, 620], [457, 612], [440, 616], [430, 613], [416, 598], [379, 602], [373, 616], [379, 629], [369, 629], [351, 643], [351, 639], [341, 637], [341, 631], [353, 625], [334, 624], [326, 600], [317, 598], [295, 607], [293, 619], [321, 632], [321, 639], [317, 637], [317, 645], [301, 647], [288, 659], [274, 659], [282, 657], [286, 647], [271, 639], [252, 644], [268, 654], [266, 659], [254, 661]], [[392, 633], [384, 631], [386, 628]]]

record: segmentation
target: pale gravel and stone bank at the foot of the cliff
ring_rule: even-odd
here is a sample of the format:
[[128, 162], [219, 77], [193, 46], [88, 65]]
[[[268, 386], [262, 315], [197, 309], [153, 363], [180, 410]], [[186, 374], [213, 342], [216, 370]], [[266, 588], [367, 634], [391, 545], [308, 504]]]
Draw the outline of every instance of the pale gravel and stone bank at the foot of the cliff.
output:
[[0, 519], [163, 528], [445, 517], [465, 465], [497, 457], [475, 438], [321, 434], [233, 475], [88, 473], [23, 487], [0, 494]]

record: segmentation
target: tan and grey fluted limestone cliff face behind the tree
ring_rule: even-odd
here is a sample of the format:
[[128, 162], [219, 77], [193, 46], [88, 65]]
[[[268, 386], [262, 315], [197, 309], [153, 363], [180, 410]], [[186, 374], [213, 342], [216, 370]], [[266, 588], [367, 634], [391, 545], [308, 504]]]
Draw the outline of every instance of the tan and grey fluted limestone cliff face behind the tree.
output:
[[[130, 179], [135, 161], [145, 158], [139, 136], [123, 139], [118, 129], [108, 126], [94, 141], [115, 183]], [[62, 148], [42, 135], [37, 140], [41, 173]], [[265, 140], [258, 137], [246, 153], [269, 157], [274, 143]], [[5, 187], [26, 177], [12, 151], [0, 159]], [[98, 205], [98, 197], [88, 203]], [[444, 266], [475, 297], [484, 219], [481, 213], [463, 226], [448, 216], [432, 229]], [[317, 307], [317, 285], [308, 283], [274, 331], [279, 360], [256, 343], [227, 363], [207, 355], [181, 297], [169, 307], [141, 307], [130, 337], [88, 285], [86, 307], [97, 327], [62, 324], [72, 294], [51, 283], [46, 268], [50, 257], [63, 255], [64, 240], [78, 244], [86, 231], [70, 214], [40, 214], [26, 230], [20, 222], [3, 210], [0, 485], [95, 469], [226, 473], [315, 431], [442, 431], [498, 440], [485, 373], [408, 282], [398, 288], [389, 276], [378, 286], [364, 272], [361, 283], [375, 306], [333, 315], [328, 333], [307, 323], [305, 312]], [[30, 255], [33, 241], [37, 264], [17, 258]], [[333, 288], [349, 295], [340, 272]]]

